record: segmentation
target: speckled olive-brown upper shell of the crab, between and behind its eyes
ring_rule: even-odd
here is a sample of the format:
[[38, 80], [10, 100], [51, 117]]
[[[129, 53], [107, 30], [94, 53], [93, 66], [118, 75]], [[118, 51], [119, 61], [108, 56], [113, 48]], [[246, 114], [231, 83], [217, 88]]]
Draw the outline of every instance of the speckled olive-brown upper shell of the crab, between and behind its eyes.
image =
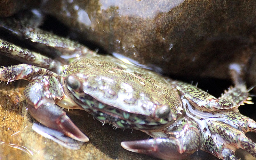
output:
[[[83, 74], [84, 77], [82, 78], [86, 78], [88, 81], [87, 83], [89, 83], [88, 85], [93, 85], [91, 86], [92, 88], [95, 85], [98, 92], [107, 92], [104, 89], [101, 91], [98, 88], [101, 88], [101, 85], [108, 86], [108, 92], [111, 91], [112, 94], [115, 95], [105, 93], [104, 96], [101, 97], [98, 95], [97, 91], [92, 92], [89, 89], [88, 91], [85, 90], [84, 92], [90, 94], [92, 97], [102, 101], [105, 104], [112, 106], [115, 104], [118, 105], [117, 108], [122, 108], [123, 110], [125, 110], [125, 108], [130, 108], [132, 110], [131, 113], [138, 112], [139, 114], [149, 115], [148, 112], [152, 112], [151, 108], [148, 110], [143, 110], [143, 112], [139, 111], [139, 107], [142, 106], [137, 104], [137, 100], [140, 99], [140, 94], [144, 94], [144, 97], [142, 96], [140, 99], [143, 105], [152, 102], [156, 106], [159, 105], [159, 107], [162, 105], [169, 106], [174, 114], [174, 117], [176, 117], [176, 114], [181, 114], [180, 111], [182, 110], [182, 102], [180, 100], [180, 96], [177, 92], [175, 92], [175, 89], [171, 85], [168, 85], [167, 81], [164, 81], [162, 76], [141, 68], [132, 70], [132, 67], [133, 66], [131, 65], [121, 63], [119, 60], [114, 60], [113, 57], [110, 56], [95, 56], [95, 58], [92, 59], [85, 58], [71, 63], [67, 68], [66, 75], [79, 73]], [[97, 79], [101, 79], [101, 77], [102, 79], [104, 77], [109, 79], [111, 78], [110, 80], [112, 81], [108, 82], [108, 80], [99, 80], [100, 82], [102, 81], [103, 84], [98, 84], [100, 82], [98, 82]], [[122, 83], [131, 86], [132, 91], [130, 91], [130, 94], [134, 99], [134, 103], [136, 102], [135, 104], [129, 104], [128, 102], [126, 103], [125, 101], [120, 101], [119, 99], [116, 100], [118, 97], [117, 94], [119, 93], [118, 91], [122, 92], [124, 90], [122, 88]], [[148, 92], [148, 90], [151, 92]], [[123, 92], [127, 91], [125, 90]], [[127, 100], [129, 100], [128, 97]]]

